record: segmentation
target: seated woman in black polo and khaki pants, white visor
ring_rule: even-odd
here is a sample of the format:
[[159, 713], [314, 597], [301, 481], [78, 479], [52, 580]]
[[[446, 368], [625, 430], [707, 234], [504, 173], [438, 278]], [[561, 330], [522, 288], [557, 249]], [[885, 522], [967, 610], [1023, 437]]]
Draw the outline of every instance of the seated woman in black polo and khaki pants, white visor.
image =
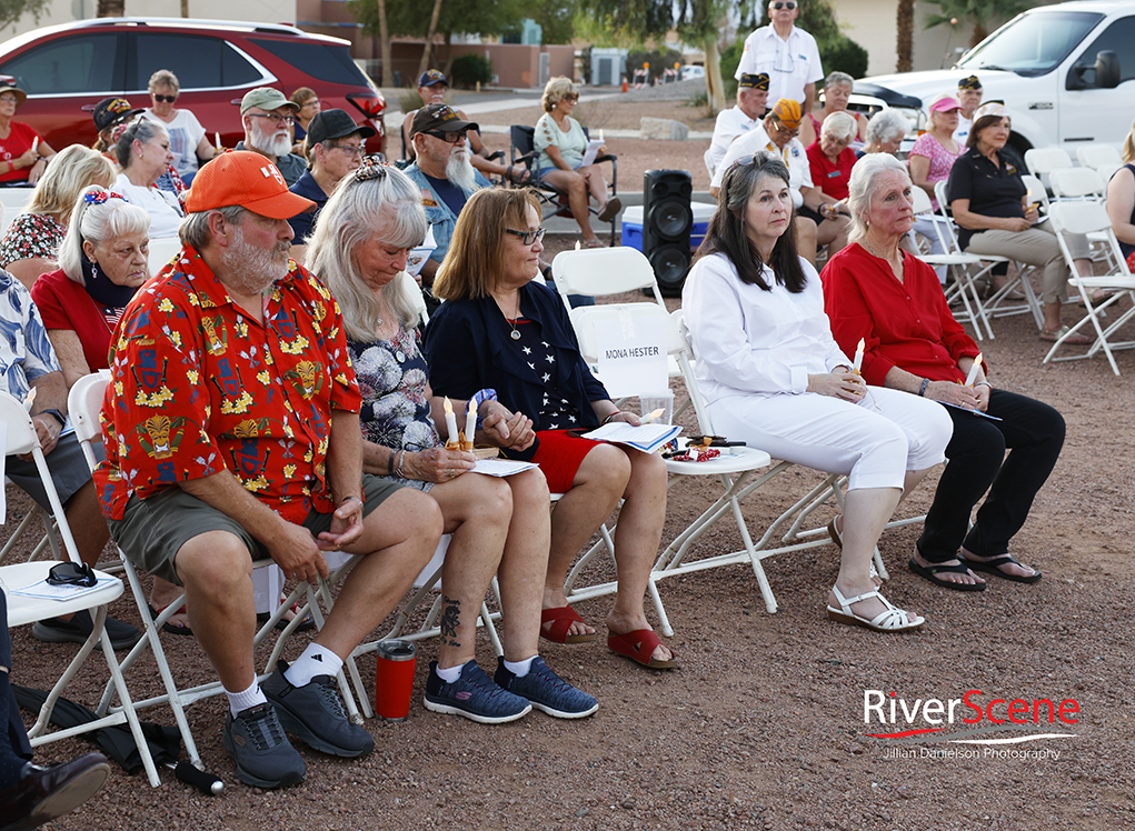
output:
[[[1020, 171], [999, 151], [1009, 141], [1009, 111], [989, 103], [974, 112], [969, 152], [958, 158], [945, 186], [947, 200], [958, 223], [958, 243], [969, 254], [995, 254], [1044, 269], [1041, 299], [1044, 327], [1041, 340], [1059, 340], [1067, 331], [1060, 306], [1068, 302], [1068, 266], [1056, 235], [1048, 224], [1037, 224], [1039, 202], [1031, 201]], [[1087, 239], [1066, 237], [1081, 274], [1091, 275]], [[1073, 334], [1066, 344], [1091, 344], [1084, 334]]]

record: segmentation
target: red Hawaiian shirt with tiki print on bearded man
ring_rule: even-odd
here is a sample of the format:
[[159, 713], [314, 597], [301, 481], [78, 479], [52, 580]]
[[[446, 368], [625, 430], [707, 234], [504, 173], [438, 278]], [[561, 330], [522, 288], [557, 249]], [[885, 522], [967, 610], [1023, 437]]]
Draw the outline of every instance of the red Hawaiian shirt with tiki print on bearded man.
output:
[[94, 474], [107, 517], [225, 468], [289, 522], [335, 510], [330, 415], [358, 413], [361, 398], [338, 304], [295, 262], [260, 324], [183, 248], [123, 313], [110, 372]]

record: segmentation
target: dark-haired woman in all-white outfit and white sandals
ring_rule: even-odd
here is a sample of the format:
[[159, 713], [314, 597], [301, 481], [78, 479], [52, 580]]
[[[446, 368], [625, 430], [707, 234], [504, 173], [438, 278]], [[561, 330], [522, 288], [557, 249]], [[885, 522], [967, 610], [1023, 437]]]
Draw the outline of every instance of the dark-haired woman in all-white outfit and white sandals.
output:
[[[816, 270], [796, 253], [784, 163], [757, 154], [725, 173], [717, 212], [682, 290], [698, 388], [714, 429], [770, 455], [848, 476], [827, 616], [877, 631], [915, 629], [871, 576], [875, 543], [903, 493], [944, 459], [942, 407], [867, 387], [824, 314]], [[842, 519], [842, 522], [840, 522]]]

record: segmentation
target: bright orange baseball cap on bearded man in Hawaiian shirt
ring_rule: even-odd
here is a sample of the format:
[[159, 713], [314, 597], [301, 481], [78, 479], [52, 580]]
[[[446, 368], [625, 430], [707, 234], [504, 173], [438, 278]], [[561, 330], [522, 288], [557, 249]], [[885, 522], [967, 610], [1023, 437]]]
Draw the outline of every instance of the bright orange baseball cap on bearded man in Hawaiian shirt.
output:
[[287, 189], [284, 175], [267, 158], [246, 150], [221, 153], [201, 168], [185, 196], [190, 213], [232, 205], [269, 219], [292, 219], [316, 207]]

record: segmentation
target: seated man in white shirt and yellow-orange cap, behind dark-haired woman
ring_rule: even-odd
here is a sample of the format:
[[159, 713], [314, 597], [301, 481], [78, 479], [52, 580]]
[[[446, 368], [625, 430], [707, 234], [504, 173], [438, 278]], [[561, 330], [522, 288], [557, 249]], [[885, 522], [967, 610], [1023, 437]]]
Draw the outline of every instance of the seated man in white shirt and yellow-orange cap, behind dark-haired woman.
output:
[[801, 118], [799, 102], [791, 99], [777, 101], [765, 116], [760, 129], [749, 130], [729, 146], [725, 158], [714, 170], [709, 193], [717, 196], [725, 171], [738, 160], [743, 162], [754, 153], [762, 152], [779, 155], [788, 164], [789, 189], [796, 209], [797, 248], [800, 256], [815, 265], [817, 246], [826, 245], [831, 256], [848, 244], [851, 220], [840, 210], [836, 200], [812, 181], [808, 153], [797, 138]]

